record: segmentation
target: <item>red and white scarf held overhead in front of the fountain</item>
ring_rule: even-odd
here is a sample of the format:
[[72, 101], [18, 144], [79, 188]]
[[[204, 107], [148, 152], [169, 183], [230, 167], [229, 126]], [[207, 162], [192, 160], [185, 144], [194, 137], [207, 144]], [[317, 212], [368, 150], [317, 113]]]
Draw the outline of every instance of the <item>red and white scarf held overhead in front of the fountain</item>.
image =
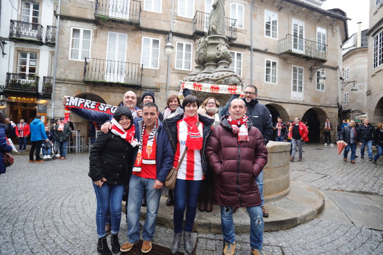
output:
[[219, 93], [219, 94], [243, 94], [242, 86], [221, 85], [200, 82], [182, 82], [182, 89], [188, 88], [201, 92]]

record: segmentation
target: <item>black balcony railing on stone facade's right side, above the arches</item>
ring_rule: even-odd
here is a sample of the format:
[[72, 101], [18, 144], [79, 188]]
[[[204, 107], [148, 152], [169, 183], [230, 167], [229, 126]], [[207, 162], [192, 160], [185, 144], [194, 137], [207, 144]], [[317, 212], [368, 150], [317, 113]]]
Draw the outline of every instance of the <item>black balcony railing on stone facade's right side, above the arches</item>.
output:
[[279, 54], [314, 59], [319, 62], [327, 60], [327, 45], [288, 34], [286, 38], [278, 41]]

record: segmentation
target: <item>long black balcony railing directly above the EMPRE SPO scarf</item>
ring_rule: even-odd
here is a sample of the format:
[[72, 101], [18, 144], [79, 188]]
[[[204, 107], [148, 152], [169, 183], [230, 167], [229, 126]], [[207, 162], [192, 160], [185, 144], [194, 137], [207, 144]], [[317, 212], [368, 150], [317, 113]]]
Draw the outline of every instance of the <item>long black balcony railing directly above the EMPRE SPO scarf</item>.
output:
[[86, 57], [83, 80], [90, 83], [141, 85], [142, 64]]

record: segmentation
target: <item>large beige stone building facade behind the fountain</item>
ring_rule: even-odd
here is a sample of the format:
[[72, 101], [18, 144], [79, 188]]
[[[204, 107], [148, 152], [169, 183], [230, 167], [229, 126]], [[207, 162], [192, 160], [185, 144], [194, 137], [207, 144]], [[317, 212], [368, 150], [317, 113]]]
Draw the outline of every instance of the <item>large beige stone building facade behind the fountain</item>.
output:
[[[61, 0], [54, 117], [63, 116], [65, 95], [118, 105], [128, 90], [139, 99], [144, 91], [154, 91], [156, 103], [164, 109], [168, 87], [164, 47], [172, 10], [169, 94], [178, 93], [179, 81], [194, 70], [195, 41], [206, 35], [212, 5], [211, 0], [173, 2], [172, 6], [171, 0]], [[225, 1], [232, 70], [245, 86], [257, 86], [258, 98], [273, 121], [278, 115], [283, 121], [296, 116], [308, 121], [314, 142], [323, 135], [326, 117], [337, 121], [341, 46], [348, 39], [345, 13], [321, 9], [323, 2]], [[318, 82], [322, 70], [323, 85]], [[75, 129], [87, 134], [87, 121], [72, 115]]]

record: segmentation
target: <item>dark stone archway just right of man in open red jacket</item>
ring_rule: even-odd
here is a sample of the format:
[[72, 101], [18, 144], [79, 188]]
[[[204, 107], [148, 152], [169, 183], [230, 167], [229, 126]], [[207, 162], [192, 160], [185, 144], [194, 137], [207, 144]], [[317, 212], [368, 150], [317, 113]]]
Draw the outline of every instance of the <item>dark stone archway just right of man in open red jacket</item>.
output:
[[323, 138], [321, 132], [321, 123], [327, 118], [327, 114], [319, 107], [313, 107], [307, 110], [301, 119], [301, 121], [307, 121], [309, 129], [309, 142], [320, 142]]

